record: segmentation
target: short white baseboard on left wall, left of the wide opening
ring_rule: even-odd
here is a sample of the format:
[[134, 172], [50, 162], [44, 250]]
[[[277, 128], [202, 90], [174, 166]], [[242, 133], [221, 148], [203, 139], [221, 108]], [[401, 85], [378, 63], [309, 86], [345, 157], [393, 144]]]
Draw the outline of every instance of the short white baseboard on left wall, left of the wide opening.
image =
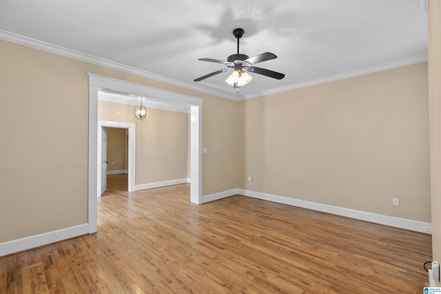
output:
[[0, 256], [8, 255], [20, 251], [25, 251], [35, 247], [59, 242], [69, 238], [87, 235], [89, 233], [89, 224], [79, 224], [75, 227], [32, 235], [30, 237], [12, 240], [0, 243]]

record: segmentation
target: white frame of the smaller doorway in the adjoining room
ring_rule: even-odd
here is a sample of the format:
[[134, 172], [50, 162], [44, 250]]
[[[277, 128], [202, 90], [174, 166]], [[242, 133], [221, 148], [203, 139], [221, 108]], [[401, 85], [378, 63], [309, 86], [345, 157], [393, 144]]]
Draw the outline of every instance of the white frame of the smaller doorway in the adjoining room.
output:
[[101, 132], [103, 132], [103, 127], [113, 127], [116, 129], [127, 129], [127, 132], [129, 133], [129, 142], [128, 142], [128, 155], [129, 155], [129, 162], [127, 166], [127, 173], [128, 173], [128, 189], [130, 192], [136, 191], [135, 189], [135, 162], [136, 162], [136, 154], [135, 154], [135, 146], [136, 146], [136, 123], [120, 123], [117, 121], [106, 121], [106, 120], [98, 120], [98, 136], [96, 140], [96, 158], [97, 160], [97, 166], [96, 166], [96, 193], [97, 197], [101, 197], [101, 144], [103, 143], [101, 140]]

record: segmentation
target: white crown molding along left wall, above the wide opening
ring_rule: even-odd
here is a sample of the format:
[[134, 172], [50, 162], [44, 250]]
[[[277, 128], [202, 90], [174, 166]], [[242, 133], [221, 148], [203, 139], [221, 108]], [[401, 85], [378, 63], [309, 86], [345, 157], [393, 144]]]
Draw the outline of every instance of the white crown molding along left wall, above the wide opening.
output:
[[109, 61], [107, 59], [101, 59], [99, 57], [96, 56], [92, 56], [89, 54], [85, 54], [82, 52], [78, 52], [75, 50], [70, 50], [67, 48], [63, 48], [61, 46], [57, 46], [57, 45], [53, 45], [50, 43], [46, 43], [43, 41], [39, 41], [36, 39], [32, 39], [32, 38], [28, 38], [27, 36], [21, 36], [19, 34], [14, 34], [12, 32], [7, 32], [4, 30], [0, 30], [0, 39], [4, 40], [4, 41], [9, 41], [12, 43], [17, 43], [19, 45], [24, 45], [30, 48], [34, 48], [34, 49], [38, 49], [38, 50], [43, 50], [45, 52], [49, 52], [49, 53], [53, 53], [53, 54], [58, 54], [61, 56], [65, 56], [65, 57], [69, 57], [72, 59], [76, 59], [79, 61], [85, 61], [88, 63], [93, 63], [95, 65], [100, 65], [103, 67], [108, 67], [108, 68], [112, 68], [113, 70], [119, 70], [121, 72], [127, 72], [128, 74], [136, 74], [137, 76], [143, 76], [145, 78], [151, 78], [152, 80], [155, 81], [160, 81], [163, 83], [169, 83], [171, 85], [176, 85], [178, 87], [185, 87], [189, 90], [194, 90], [194, 91], [198, 91], [198, 92], [203, 92], [205, 94], [211, 94], [214, 96], [220, 96], [222, 98], [227, 98], [230, 100], [234, 100], [234, 101], [238, 101], [238, 98], [236, 96], [234, 96], [233, 94], [229, 95], [229, 94], [225, 94], [225, 93], [220, 93], [220, 92], [216, 92], [213, 90], [208, 90], [204, 87], [198, 86], [198, 85], [192, 85], [190, 83], [185, 83], [182, 81], [178, 81], [174, 78], [168, 78], [167, 76], [161, 76], [159, 74], [154, 74], [152, 72], [147, 72], [145, 70], [139, 70], [138, 68], [135, 67], [131, 67], [131, 66], [127, 66], [127, 65], [123, 65], [121, 63], [116, 63], [114, 61]]

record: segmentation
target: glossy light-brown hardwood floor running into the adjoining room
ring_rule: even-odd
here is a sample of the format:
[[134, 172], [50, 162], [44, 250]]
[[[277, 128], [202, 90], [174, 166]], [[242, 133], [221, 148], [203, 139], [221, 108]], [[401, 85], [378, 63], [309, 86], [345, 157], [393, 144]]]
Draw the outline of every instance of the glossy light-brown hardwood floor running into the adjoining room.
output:
[[431, 235], [108, 177], [98, 233], [0, 258], [0, 293], [422, 293]]

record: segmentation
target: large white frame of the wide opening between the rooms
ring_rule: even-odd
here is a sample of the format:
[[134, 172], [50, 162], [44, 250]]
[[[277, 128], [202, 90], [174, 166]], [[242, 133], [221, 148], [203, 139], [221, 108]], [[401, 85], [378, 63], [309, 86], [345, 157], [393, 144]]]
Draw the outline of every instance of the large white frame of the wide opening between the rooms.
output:
[[89, 233], [97, 230], [98, 218], [98, 92], [113, 91], [139, 95], [146, 100], [187, 105], [190, 112], [190, 202], [202, 204], [202, 105], [203, 99], [136, 83], [89, 75], [89, 160], [88, 160], [88, 224]]

